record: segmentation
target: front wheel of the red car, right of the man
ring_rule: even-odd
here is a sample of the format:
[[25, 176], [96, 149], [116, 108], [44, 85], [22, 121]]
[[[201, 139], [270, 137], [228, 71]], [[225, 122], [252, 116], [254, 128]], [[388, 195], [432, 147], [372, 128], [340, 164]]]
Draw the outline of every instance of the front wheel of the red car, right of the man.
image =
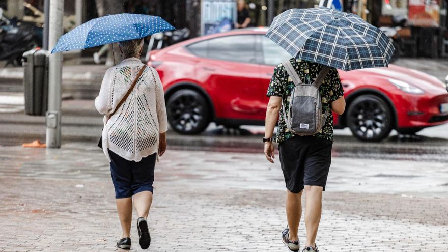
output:
[[347, 125], [362, 141], [381, 141], [392, 130], [392, 113], [386, 102], [374, 95], [354, 99], [347, 110]]

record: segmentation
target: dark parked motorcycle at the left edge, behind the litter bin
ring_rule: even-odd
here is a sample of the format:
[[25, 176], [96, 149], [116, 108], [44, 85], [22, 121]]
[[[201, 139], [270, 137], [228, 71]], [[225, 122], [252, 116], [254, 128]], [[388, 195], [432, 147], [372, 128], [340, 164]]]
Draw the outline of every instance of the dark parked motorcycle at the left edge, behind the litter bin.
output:
[[6, 18], [0, 9], [0, 60], [6, 61], [6, 66], [21, 66], [23, 53], [38, 45], [32, 26]]

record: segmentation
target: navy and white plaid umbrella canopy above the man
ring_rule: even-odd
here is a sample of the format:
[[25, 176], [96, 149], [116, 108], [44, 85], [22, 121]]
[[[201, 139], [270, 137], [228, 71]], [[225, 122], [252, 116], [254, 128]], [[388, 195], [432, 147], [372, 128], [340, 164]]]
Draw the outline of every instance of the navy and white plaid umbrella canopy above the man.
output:
[[292, 57], [344, 71], [387, 67], [395, 50], [377, 27], [325, 7], [283, 12], [274, 18], [266, 37]]

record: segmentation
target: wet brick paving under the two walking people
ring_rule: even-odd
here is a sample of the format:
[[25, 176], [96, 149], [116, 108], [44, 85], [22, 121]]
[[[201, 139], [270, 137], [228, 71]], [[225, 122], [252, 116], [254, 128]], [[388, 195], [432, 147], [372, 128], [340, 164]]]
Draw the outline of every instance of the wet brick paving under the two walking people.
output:
[[[283, 178], [263, 158], [169, 150], [156, 167], [150, 250], [286, 251]], [[448, 251], [446, 163], [334, 157], [331, 169], [321, 252]], [[0, 191], [0, 251], [117, 250], [120, 223], [99, 149], [0, 147]], [[131, 251], [141, 250], [136, 233], [134, 223]]]

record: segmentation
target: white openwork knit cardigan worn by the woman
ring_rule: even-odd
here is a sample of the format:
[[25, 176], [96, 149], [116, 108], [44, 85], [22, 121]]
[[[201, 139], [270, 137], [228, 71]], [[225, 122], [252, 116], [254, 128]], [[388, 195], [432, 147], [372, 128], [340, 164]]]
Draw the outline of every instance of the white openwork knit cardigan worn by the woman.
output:
[[104, 115], [103, 151], [110, 162], [107, 149], [130, 161], [158, 151], [159, 133], [167, 130], [165, 98], [157, 71], [147, 66], [132, 93], [109, 118], [125, 96], [132, 81], [144, 64], [129, 58], [106, 71], [95, 107]]

